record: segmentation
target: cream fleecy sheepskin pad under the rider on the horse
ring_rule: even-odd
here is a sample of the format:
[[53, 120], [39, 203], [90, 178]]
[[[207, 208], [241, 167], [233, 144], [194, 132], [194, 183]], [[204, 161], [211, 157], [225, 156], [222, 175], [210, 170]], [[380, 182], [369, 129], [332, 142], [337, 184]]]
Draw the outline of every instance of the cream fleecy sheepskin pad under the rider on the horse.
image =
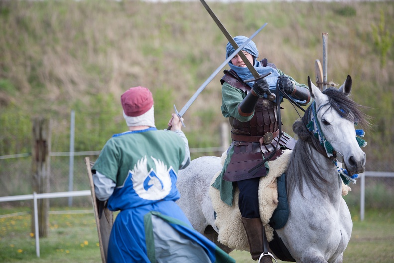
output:
[[[274, 210], [278, 206], [277, 178], [287, 168], [292, 150], [284, 150], [283, 154], [273, 161], [269, 161], [269, 173], [261, 177], [259, 184], [260, 218], [265, 226], [268, 242], [273, 239], [273, 228], [268, 224]], [[222, 154], [221, 164], [224, 164], [226, 152]], [[211, 184], [216, 180], [221, 171], [217, 172]], [[232, 206], [228, 206], [220, 199], [220, 192], [214, 187], [209, 188], [209, 196], [212, 200], [213, 209], [216, 212], [215, 225], [219, 229], [218, 241], [229, 248], [249, 251], [248, 239], [241, 221], [241, 213], [238, 208], [238, 187], [235, 190]]]

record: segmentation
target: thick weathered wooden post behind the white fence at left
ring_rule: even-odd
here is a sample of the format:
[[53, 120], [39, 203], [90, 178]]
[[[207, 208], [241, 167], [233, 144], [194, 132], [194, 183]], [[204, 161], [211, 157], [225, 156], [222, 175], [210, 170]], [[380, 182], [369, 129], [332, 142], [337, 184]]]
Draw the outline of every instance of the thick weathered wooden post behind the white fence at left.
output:
[[[36, 193], [48, 193], [50, 185], [49, 152], [51, 151], [50, 119], [36, 117], [32, 120], [32, 123], [32, 191]], [[39, 237], [47, 237], [49, 199], [38, 199], [37, 201]], [[31, 222], [31, 232], [35, 233], [34, 217], [32, 217]]]

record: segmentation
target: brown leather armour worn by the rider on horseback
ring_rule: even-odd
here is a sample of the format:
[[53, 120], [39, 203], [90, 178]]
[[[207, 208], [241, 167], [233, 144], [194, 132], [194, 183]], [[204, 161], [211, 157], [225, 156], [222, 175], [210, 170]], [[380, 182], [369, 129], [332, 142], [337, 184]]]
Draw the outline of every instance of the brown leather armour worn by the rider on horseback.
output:
[[[249, 85], [244, 83], [235, 71], [225, 70], [224, 73], [221, 79], [222, 84], [225, 81], [246, 93], [250, 92]], [[230, 117], [229, 121], [234, 153], [224, 174], [224, 179], [227, 181], [234, 182], [265, 176], [267, 172], [264, 165], [257, 172], [249, 173], [248, 171], [263, 161], [263, 155], [264, 158], [269, 157], [278, 141], [277, 151], [270, 160], [278, 158], [283, 152], [282, 149], [293, 149], [296, 144], [296, 140], [284, 132], [279, 136], [277, 104], [266, 98], [258, 99], [250, 121], [240, 122], [233, 117]]]

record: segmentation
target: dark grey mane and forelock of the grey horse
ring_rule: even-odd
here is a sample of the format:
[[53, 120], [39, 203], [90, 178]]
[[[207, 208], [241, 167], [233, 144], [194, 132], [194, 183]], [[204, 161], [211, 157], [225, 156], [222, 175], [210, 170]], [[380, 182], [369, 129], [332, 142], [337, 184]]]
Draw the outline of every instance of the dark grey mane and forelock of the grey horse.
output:
[[[360, 124], [361, 126], [368, 127], [370, 125], [367, 120], [367, 115], [361, 110], [365, 107], [351, 100], [348, 94], [340, 92], [333, 87], [324, 90], [323, 94], [328, 96], [330, 107], [335, 109], [343, 118]], [[325, 149], [320, 145], [320, 141], [318, 141], [318, 139], [306, 128], [306, 124], [310, 121], [310, 112], [311, 106], [306, 109], [302, 119], [296, 120], [293, 124], [293, 132], [298, 135], [298, 141], [293, 149], [293, 154], [286, 171], [288, 195], [290, 195], [295, 188], [298, 188], [303, 196], [302, 189], [304, 182], [308, 185], [312, 185], [321, 192], [326, 192], [324, 185], [327, 184], [328, 181], [316, 169], [316, 167], [322, 167], [322, 164], [317, 163], [316, 159], [313, 158], [314, 152], [308, 150], [306, 148], [307, 145], [310, 145], [319, 154], [325, 156], [327, 162], [331, 161], [331, 159], [326, 156]]]

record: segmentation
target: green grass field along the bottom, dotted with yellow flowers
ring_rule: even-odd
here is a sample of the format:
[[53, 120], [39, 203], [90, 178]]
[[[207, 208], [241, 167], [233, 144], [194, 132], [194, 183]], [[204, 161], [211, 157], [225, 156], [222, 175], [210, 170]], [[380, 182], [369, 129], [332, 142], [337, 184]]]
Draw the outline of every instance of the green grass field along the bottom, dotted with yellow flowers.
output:
[[[344, 262], [394, 262], [393, 211], [366, 211], [362, 222], [358, 211], [352, 211], [352, 215], [353, 233]], [[52, 208], [49, 235], [40, 239], [40, 258], [36, 256], [30, 222], [28, 208], [0, 208], [1, 263], [101, 262], [96, 224], [89, 209]], [[237, 263], [253, 262], [248, 252], [233, 251], [230, 255]]]

